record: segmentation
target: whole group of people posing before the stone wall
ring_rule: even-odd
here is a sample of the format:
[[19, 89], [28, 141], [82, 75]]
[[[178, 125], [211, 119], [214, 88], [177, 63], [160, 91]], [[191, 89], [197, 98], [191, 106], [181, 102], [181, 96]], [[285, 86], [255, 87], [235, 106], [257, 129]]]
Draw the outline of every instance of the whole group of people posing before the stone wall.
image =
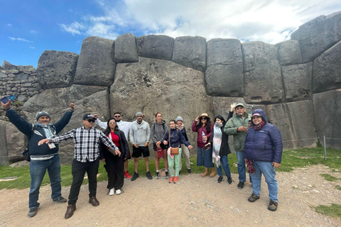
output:
[[[183, 118], [178, 116], [169, 121], [170, 128], [162, 119], [162, 114], [156, 112], [155, 123], [151, 127], [143, 120], [144, 114], [136, 113], [136, 121], [127, 122], [121, 120], [121, 113], [117, 112], [109, 118], [107, 123], [99, 120], [97, 114], [85, 114], [82, 118], [83, 126], [58, 135], [70, 121], [75, 105], [70, 104], [70, 110], [55, 124], [50, 123], [50, 114], [40, 111], [36, 115], [36, 124], [28, 123], [11, 109], [11, 101], [1, 102], [6, 116], [19, 131], [28, 137], [28, 149], [31, 157], [30, 173], [31, 188], [29, 193], [28, 216], [33, 217], [37, 213], [38, 194], [40, 184], [43, 181], [46, 170], [50, 177], [53, 202], [68, 202], [65, 218], [70, 218], [76, 210], [76, 202], [80, 193], [80, 187], [87, 172], [89, 179], [89, 203], [99, 206], [96, 198], [97, 173], [99, 160], [105, 162], [105, 170], [108, 175], [108, 194], [121, 194], [124, 191], [124, 177], [131, 181], [139, 178], [139, 157], [143, 155], [146, 164], [146, 177], [153, 179], [149, 171], [150, 156], [148, 144], [153, 141], [155, 153], [156, 179], [160, 178], [160, 159], [165, 161], [166, 179], [169, 183], [178, 183], [182, 168], [181, 155], [185, 157], [187, 171], [190, 173], [190, 152], [192, 145], [188, 141]], [[235, 115], [233, 116], [233, 114]], [[103, 128], [100, 131], [94, 128], [97, 124]], [[234, 149], [238, 160], [239, 184], [243, 189], [246, 182], [247, 163], [250, 182], [253, 192], [249, 197], [250, 202], [259, 199], [261, 190], [261, 174], [264, 175], [269, 188], [270, 204], [268, 209], [276, 211], [278, 206], [278, 185], [276, 181], [276, 168], [281, 164], [283, 150], [281, 133], [278, 129], [266, 121], [264, 111], [257, 109], [251, 116], [246, 113], [244, 104], [232, 104], [227, 121], [222, 116], [216, 116], [211, 123], [208, 114], [201, 114], [195, 118], [192, 131], [197, 132], [197, 166], [204, 166], [202, 177], [215, 177], [215, 165], [217, 166], [217, 182], [224, 181], [222, 169], [227, 176], [227, 182], [232, 184], [232, 176], [229, 170], [227, 155], [231, 153], [228, 144], [228, 135], [233, 135]], [[132, 154], [129, 151], [129, 140], [133, 146]], [[61, 195], [60, 157], [58, 155], [58, 143], [74, 140], [75, 153], [72, 161], [72, 185], [67, 199]], [[134, 175], [128, 172], [128, 162], [134, 157]], [[175, 169], [175, 170], [174, 170]]]

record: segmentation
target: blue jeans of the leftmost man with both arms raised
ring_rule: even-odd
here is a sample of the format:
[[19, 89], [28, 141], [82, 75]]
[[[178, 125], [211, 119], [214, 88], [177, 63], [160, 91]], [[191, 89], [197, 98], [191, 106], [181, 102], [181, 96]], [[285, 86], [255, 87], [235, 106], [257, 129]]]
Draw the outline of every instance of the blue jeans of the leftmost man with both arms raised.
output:
[[40, 184], [43, 181], [45, 172], [48, 170], [48, 177], [50, 177], [50, 184], [52, 189], [51, 198], [58, 199], [62, 196], [62, 187], [60, 182], [60, 158], [59, 155], [55, 155], [49, 160], [31, 160], [30, 175], [31, 175], [31, 188], [29, 194], [28, 206], [30, 209], [38, 208], [39, 189]]

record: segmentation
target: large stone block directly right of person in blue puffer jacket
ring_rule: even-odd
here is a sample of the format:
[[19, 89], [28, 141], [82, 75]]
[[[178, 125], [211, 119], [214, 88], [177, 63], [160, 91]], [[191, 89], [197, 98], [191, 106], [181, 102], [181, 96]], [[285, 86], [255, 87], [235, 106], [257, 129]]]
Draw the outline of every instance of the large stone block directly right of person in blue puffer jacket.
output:
[[281, 131], [283, 148], [315, 147], [318, 143], [311, 99], [268, 105], [266, 116]]

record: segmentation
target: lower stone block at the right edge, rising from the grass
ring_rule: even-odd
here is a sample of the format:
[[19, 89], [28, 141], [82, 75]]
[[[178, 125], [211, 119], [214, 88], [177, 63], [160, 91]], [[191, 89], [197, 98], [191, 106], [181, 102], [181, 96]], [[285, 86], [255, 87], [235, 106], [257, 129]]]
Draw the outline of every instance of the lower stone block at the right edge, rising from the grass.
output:
[[327, 148], [341, 150], [341, 89], [313, 94], [313, 104], [320, 143], [325, 136]]

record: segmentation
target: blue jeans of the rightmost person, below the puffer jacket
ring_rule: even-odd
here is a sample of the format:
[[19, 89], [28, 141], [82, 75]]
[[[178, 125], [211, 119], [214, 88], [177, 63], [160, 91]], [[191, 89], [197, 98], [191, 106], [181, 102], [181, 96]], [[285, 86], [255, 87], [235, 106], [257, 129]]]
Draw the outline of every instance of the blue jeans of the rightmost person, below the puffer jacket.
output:
[[269, 199], [278, 201], [278, 185], [276, 180], [276, 171], [272, 162], [259, 162], [254, 161], [255, 173], [251, 174], [252, 189], [254, 194], [259, 196], [261, 192], [261, 174], [265, 177], [265, 182], [268, 184]]

